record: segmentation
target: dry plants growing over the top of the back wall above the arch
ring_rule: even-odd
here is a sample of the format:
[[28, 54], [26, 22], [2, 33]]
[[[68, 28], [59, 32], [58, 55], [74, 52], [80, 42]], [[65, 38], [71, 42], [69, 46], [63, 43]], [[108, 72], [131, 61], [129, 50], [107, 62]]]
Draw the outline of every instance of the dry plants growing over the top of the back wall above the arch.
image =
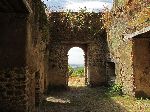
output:
[[81, 8], [77, 13], [68, 10], [62, 14], [62, 21], [66, 21], [71, 30], [87, 30], [92, 36], [101, 31], [101, 13], [88, 12], [86, 7]]

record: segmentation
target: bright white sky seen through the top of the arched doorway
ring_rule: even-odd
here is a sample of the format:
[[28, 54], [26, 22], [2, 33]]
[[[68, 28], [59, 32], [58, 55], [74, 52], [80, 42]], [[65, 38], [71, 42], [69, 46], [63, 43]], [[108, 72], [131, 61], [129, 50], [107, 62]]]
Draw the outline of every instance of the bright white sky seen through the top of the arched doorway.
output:
[[69, 64], [84, 64], [84, 51], [79, 47], [73, 47], [68, 51]]

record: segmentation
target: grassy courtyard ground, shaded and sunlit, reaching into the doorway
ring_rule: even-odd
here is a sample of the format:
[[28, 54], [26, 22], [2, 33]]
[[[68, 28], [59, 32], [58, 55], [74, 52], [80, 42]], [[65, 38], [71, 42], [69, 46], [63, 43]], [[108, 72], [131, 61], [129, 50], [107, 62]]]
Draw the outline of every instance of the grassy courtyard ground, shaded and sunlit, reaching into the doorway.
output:
[[82, 85], [84, 79], [71, 80], [68, 91], [50, 93], [45, 112], [150, 112], [150, 100], [112, 96], [105, 87], [88, 88]]

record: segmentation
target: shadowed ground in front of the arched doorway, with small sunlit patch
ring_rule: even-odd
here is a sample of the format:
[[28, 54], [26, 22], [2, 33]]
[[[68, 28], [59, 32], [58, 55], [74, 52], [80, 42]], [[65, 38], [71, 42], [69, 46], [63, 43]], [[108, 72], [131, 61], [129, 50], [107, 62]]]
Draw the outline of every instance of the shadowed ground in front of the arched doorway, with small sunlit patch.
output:
[[68, 91], [51, 92], [45, 112], [128, 112], [113, 101], [106, 88], [71, 87]]

